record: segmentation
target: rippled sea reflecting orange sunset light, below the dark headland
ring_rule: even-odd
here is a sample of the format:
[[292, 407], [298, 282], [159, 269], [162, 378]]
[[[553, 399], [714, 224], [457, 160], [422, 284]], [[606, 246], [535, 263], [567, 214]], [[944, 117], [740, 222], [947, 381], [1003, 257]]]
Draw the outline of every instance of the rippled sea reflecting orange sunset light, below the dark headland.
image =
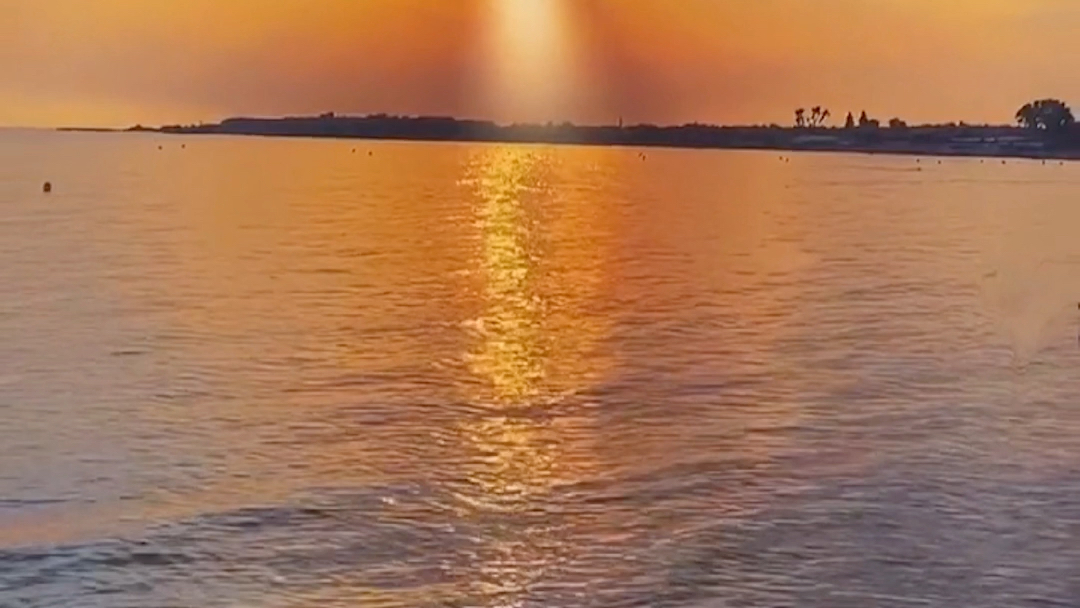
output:
[[1080, 166], [638, 153], [0, 132], [0, 606], [1080, 605]]

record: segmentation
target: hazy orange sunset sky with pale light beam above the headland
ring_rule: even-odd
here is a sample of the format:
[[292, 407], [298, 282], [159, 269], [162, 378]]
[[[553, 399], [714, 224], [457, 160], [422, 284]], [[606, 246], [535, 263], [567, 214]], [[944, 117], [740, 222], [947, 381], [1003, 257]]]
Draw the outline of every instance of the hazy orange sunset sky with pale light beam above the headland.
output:
[[1080, 104], [1078, 30], [1077, 0], [0, 0], [0, 125], [1002, 123]]

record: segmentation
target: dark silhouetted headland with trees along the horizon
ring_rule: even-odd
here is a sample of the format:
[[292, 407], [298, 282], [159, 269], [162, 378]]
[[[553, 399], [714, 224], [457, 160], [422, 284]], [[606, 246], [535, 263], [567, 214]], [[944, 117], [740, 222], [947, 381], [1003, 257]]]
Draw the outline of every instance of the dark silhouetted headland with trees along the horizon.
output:
[[[795, 111], [792, 126], [779, 124], [721, 126], [689, 123], [576, 125], [571, 123], [497, 124], [450, 117], [391, 114], [230, 118], [219, 123], [136, 125], [125, 132], [175, 135], [257, 135], [423, 141], [491, 141], [651, 146], [670, 148], [847, 151], [864, 153], [969, 156], [1080, 160], [1080, 129], [1071, 110], [1056, 99], [1040, 99], [1017, 110], [1016, 126], [966, 123], [908, 125], [891, 119], [885, 125], [866, 112], [848, 113], [842, 126], [826, 125], [821, 107]], [[65, 131], [100, 131], [66, 129]]]

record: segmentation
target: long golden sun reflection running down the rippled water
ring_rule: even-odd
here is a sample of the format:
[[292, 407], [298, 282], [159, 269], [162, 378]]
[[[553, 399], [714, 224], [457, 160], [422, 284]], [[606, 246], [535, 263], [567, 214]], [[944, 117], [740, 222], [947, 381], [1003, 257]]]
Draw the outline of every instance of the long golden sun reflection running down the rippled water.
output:
[[468, 398], [460, 428], [469, 488], [460, 496], [490, 533], [473, 592], [514, 606], [569, 548], [545, 506], [562, 485], [589, 475], [595, 430], [581, 393], [603, 377], [608, 321], [603, 206], [567, 186], [567, 168], [542, 149], [489, 148], [470, 164], [474, 198], [473, 297]]

